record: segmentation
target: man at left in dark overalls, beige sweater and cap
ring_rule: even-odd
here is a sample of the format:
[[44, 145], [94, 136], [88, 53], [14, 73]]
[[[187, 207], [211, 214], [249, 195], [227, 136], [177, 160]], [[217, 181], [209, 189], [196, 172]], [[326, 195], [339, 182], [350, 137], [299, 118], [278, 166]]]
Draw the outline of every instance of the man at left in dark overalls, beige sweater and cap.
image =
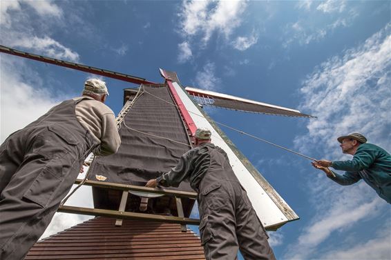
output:
[[49, 225], [90, 152], [117, 152], [120, 136], [104, 105], [106, 84], [88, 79], [0, 146], [0, 259], [23, 259]]

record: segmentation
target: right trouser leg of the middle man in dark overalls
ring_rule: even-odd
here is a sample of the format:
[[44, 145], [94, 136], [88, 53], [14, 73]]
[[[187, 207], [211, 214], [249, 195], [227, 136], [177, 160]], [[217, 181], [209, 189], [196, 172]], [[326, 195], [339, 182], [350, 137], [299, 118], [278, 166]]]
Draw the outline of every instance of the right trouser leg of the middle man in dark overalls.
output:
[[[240, 190], [239, 190], [240, 188]], [[245, 260], [275, 260], [267, 241], [267, 234], [260, 223], [244, 189], [238, 189], [236, 210], [236, 235], [240, 252]]]

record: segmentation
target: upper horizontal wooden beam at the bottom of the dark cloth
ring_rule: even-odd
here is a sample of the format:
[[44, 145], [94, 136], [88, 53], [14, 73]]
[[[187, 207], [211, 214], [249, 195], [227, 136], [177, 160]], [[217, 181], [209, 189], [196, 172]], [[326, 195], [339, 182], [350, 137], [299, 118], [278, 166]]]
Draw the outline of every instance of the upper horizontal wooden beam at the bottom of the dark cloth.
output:
[[[75, 181], [75, 184], [79, 184], [81, 182], [82, 182], [81, 179], [77, 179]], [[103, 181], [90, 181], [90, 180], [84, 182], [84, 185], [94, 186], [98, 188], [114, 189], [114, 190], [133, 190], [136, 192], [148, 192], [148, 193], [155, 193], [155, 194], [164, 194], [168, 196], [176, 196], [180, 198], [197, 199], [196, 192], [182, 192], [180, 190], [166, 190], [163, 188], [146, 188], [144, 186], [133, 186], [127, 184], [119, 184], [119, 183], [111, 183], [111, 182], [103, 182]]]

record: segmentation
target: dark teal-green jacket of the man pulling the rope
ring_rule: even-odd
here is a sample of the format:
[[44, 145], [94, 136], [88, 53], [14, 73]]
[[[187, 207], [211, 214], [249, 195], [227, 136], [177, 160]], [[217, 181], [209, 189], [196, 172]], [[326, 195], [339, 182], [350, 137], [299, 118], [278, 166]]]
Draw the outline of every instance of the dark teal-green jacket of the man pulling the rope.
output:
[[391, 156], [383, 148], [363, 143], [351, 161], [332, 161], [332, 168], [345, 170], [345, 174], [329, 177], [341, 185], [351, 185], [363, 179], [376, 190], [379, 197], [391, 203]]

